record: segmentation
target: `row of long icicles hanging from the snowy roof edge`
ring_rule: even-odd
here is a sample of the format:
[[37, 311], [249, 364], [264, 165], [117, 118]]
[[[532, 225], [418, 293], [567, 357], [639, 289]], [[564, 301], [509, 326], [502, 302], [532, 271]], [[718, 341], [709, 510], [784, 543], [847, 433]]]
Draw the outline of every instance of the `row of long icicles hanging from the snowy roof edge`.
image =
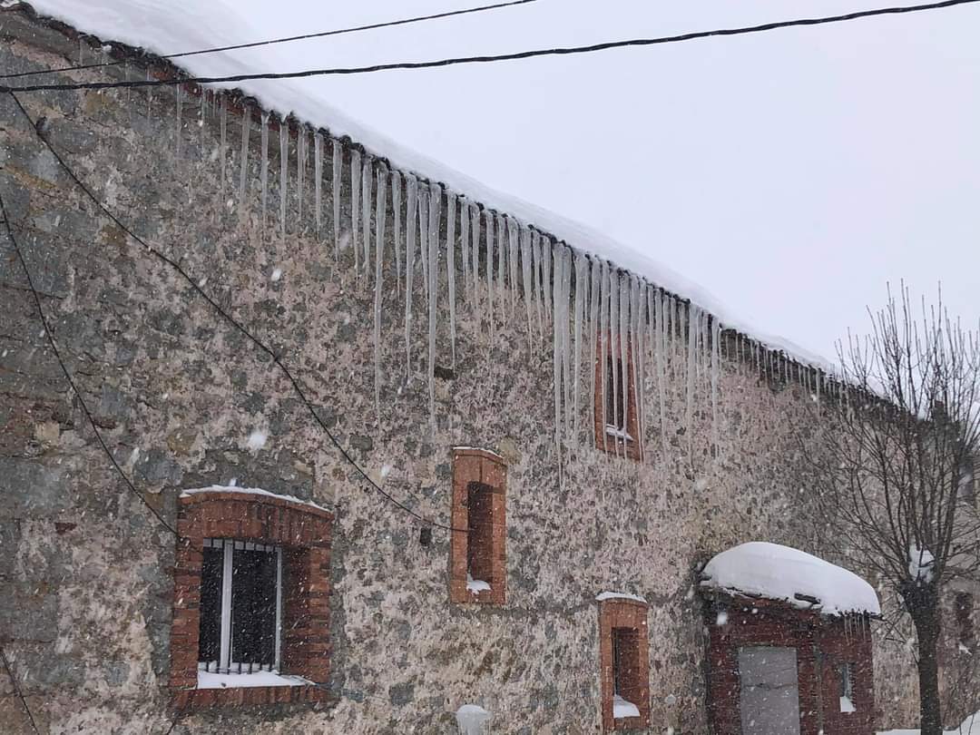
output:
[[[182, 138], [184, 93], [176, 87], [179, 155]], [[237, 197], [246, 202], [251, 176], [249, 148], [254, 121], [252, 110], [243, 106], [240, 154], [237, 172], [229, 171], [228, 110], [226, 95], [204, 90], [201, 94], [198, 125], [201, 129], [202, 156], [205, 145], [205, 119], [218, 118], [221, 166], [221, 201], [228, 183], [237, 173]], [[436, 331], [441, 320], [440, 307], [448, 311], [451, 359], [456, 364], [457, 278], [462, 275], [466, 302], [477, 323], [485, 323], [491, 342], [498, 320], [516, 327], [525, 321], [528, 349], [536, 341], [550, 337], [554, 386], [554, 439], [559, 451], [573, 449], [580, 441], [580, 401], [589, 412], [587, 431], [591, 439], [616, 454], [627, 454], [626, 443], [635, 441], [644, 456], [646, 427], [657, 428], [664, 457], [667, 449], [669, 404], [668, 381], [683, 380], [683, 428], [690, 440], [699, 395], [710, 397], [712, 441], [716, 438], [720, 370], [724, 361], [733, 361], [739, 372], [754, 370], [770, 381], [794, 381], [819, 403], [821, 393], [832, 393], [847, 400], [844, 383], [818, 368], [802, 365], [785, 353], [768, 349], [735, 330], [723, 330], [718, 319], [645, 278], [594, 255], [575, 250], [563, 241], [494, 212], [466, 196], [456, 194], [440, 183], [411, 172], [389, 169], [387, 162], [375, 158], [360, 146], [329, 135], [320, 129], [290, 122], [271, 121], [270, 113], [259, 111], [261, 139], [260, 185], [263, 227], [269, 226], [270, 130], [278, 130], [279, 202], [278, 231], [286, 235], [291, 212], [287, 206], [290, 179], [290, 138], [295, 144], [296, 221], [302, 221], [304, 196], [313, 169], [313, 221], [323, 239], [332, 239], [334, 259], [339, 263], [342, 250], [353, 248], [354, 268], [367, 276], [373, 260], [373, 348], [374, 405], [380, 421], [381, 309], [385, 293], [382, 264], [394, 260], [395, 293], [401, 296], [424, 294], [427, 306], [428, 399], [433, 431], [436, 426], [435, 367]], [[293, 128], [291, 130], [291, 127]], [[215, 156], [211, 156], [214, 160]], [[312, 161], [311, 161], [312, 159]], [[325, 165], [328, 160], [328, 167]], [[328, 168], [328, 172], [327, 172]], [[346, 171], [345, 171], [346, 170]], [[350, 185], [349, 218], [343, 221], [341, 196], [344, 177]], [[391, 197], [389, 210], [388, 197]], [[332, 206], [330, 232], [324, 227], [324, 197]], [[231, 202], [228, 202], [229, 206]], [[309, 206], [309, 204], [308, 204]], [[242, 208], [243, 210], [245, 208]], [[373, 216], [373, 238], [371, 218]], [[308, 213], [309, 217], [309, 213]], [[387, 228], [393, 229], [395, 247], [388, 254]], [[452, 243], [452, 247], [448, 246]], [[460, 263], [457, 264], [457, 255]], [[445, 269], [445, 279], [439, 270]], [[390, 269], [388, 270], [390, 274]], [[420, 276], [420, 289], [416, 278]], [[445, 294], [441, 289], [445, 287]], [[405, 299], [404, 333], [408, 377], [411, 379], [412, 328], [415, 298]], [[523, 309], [519, 302], [523, 303]], [[518, 316], [519, 312], [523, 314]], [[550, 335], [548, 334], [550, 330]], [[596, 369], [585, 363], [583, 353], [596, 355]], [[599, 397], [593, 401], [592, 397]], [[630, 401], [633, 394], [635, 402]], [[620, 417], [622, 407], [638, 416]], [[608, 409], [607, 409], [608, 407]], [[605, 432], [595, 429], [594, 412], [602, 411]], [[678, 412], [680, 413], [680, 412]], [[628, 433], [635, 427], [638, 436]], [[678, 431], [679, 429], [674, 429]], [[635, 456], [635, 455], [634, 455]]]

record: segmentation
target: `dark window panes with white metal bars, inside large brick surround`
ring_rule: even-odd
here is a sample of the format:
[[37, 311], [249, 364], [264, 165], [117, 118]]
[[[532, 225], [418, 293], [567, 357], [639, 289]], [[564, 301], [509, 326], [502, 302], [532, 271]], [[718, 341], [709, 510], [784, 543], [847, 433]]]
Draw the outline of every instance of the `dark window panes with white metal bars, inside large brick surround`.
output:
[[278, 671], [281, 628], [282, 549], [205, 539], [198, 668]]

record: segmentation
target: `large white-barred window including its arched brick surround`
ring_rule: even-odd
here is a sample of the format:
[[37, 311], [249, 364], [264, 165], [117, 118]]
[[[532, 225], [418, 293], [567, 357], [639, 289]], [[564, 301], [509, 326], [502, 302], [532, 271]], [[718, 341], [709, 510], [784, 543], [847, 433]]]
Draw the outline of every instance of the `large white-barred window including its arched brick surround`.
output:
[[181, 494], [171, 632], [179, 708], [321, 702], [330, 532], [314, 504], [261, 490]]

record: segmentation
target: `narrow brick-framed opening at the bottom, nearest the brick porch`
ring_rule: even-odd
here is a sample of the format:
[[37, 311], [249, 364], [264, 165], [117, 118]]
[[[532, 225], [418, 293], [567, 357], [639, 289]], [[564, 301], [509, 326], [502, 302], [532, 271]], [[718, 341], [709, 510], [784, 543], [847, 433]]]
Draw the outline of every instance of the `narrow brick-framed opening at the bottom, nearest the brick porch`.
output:
[[[599, 659], [603, 731], [650, 726], [650, 651], [647, 604], [613, 598], [599, 603]], [[613, 717], [618, 694], [640, 711], [639, 717]]]

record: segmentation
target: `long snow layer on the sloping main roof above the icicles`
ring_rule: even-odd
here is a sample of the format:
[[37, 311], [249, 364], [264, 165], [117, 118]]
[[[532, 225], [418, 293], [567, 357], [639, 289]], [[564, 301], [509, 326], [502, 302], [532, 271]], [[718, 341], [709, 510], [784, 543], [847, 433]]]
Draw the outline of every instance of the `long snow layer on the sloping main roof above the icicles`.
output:
[[[131, 3], [129, 0], [31, 0], [30, 4], [40, 13], [50, 15], [72, 25], [79, 31], [92, 33], [108, 43], [122, 42], [148, 51], [168, 54], [173, 49], [202, 49], [224, 43], [240, 42], [251, 37], [244, 21], [221, 4], [199, 5], [188, 12], [172, 12], [172, 4], [165, 2]], [[254, 50], [253, 50], [254, 51]], [[295, 50], [289, 56], [291, 63], [309, 66], [304, 51]], [[256, 68], [254, 59], [259, 56], [242, 56], [236, 52], [208, 53], [176, 60], [178, 66], [191, 75], [221, 76], [236, 73], [268, 71]], [[259, 62], [261, 63], [261, 62]], [[271, 63], [270, 59], [266, 63]], [[229, 87], [229, 84], [214, 86]], [[350, 135], [365, 146], [374, 156], [387, 159], [393, 166], [415, 172], [420, 178], [444, 183], [450, 190], [465, 195], [470, 201], [506, 213], [516, 221], [533, 225], [542, 232], [550, 233], [575, 250], [609, 261], [613, 266], [646, 278], [651, 283], [690, 300], [693, 304], [716, 317], [725, 327], [738, 329], [753, 337], [769, 349], [781, 350], [787, 355], [816, 368], [831, 370], [824, 358], [809, 352], [783, 337], [767, 335], [739, 319], [726, 309], [721, 300], [713, 296], [694, 279], [686, 277], [665, 263], [649, 255], [649, 249], [638, 249], [620, 243], [604, 232], [572, 221], [518, 197], [498, 191], [466, 173], [456, 171], [440, 160], [419, 154], [400, 144], [397, 125], [386, 128], [385, 134], [369, 125], [360, 123], [333, 107], [331, 96], [325, 90], [309, 93], [288, 80], [252, 79], [238, 85], [249, 97], [254, 97], [267, 110], [281, 116], [292, 116], [301, 123], [326, 128], [334, 135]], [[404, 117], [388, 116], [390, 120]]]

